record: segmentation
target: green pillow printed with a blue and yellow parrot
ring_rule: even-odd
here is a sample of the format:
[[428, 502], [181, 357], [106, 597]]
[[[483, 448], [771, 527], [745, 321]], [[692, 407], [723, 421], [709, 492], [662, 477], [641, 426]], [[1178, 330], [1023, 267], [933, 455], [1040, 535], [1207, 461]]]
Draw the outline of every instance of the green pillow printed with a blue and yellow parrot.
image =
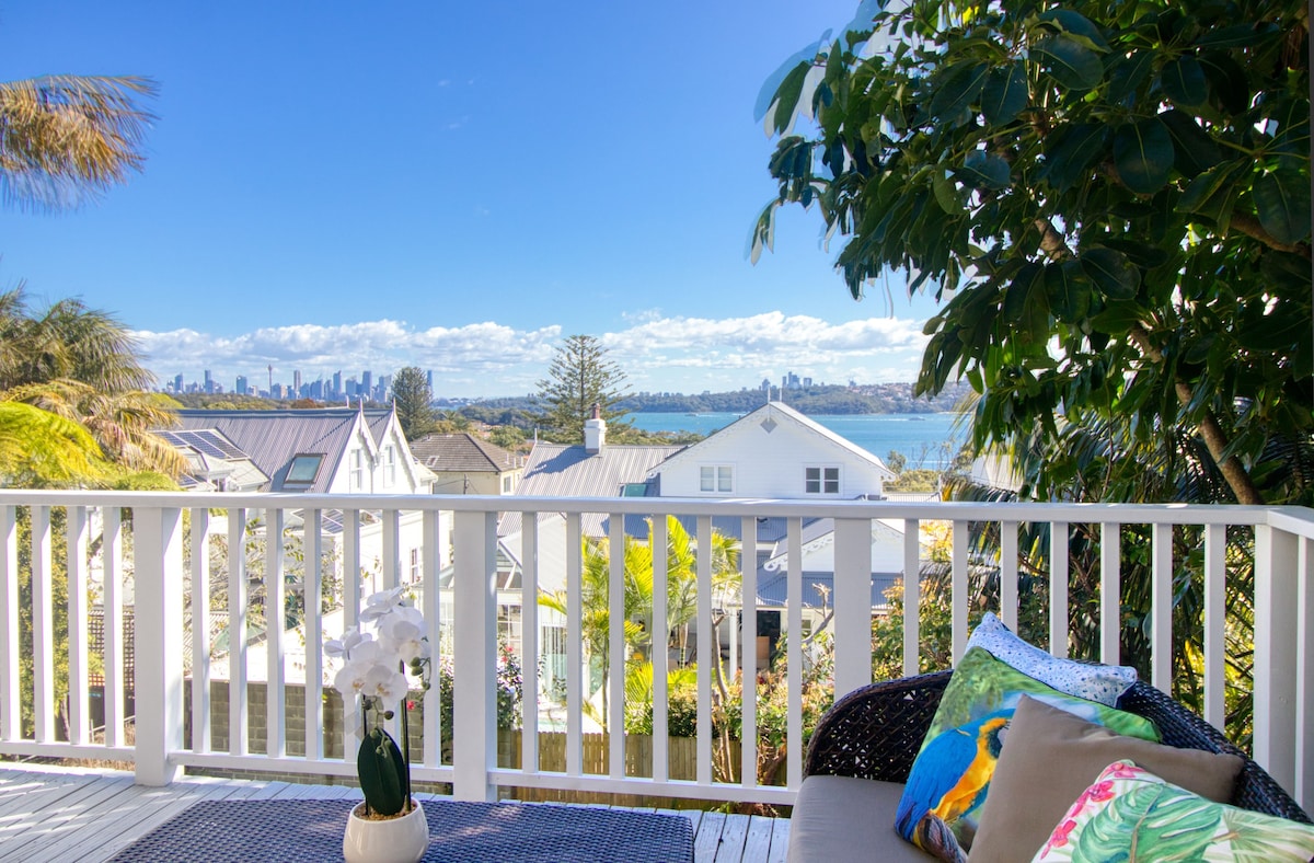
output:
[[899, 835], [932, 856], [966, 862], [1008, 724], [1024, 695], [1118, 734], [1159, 742], [1150, 720], [1059, 692], [972, 648], [954, 669], [912, 764], [895, 816]]

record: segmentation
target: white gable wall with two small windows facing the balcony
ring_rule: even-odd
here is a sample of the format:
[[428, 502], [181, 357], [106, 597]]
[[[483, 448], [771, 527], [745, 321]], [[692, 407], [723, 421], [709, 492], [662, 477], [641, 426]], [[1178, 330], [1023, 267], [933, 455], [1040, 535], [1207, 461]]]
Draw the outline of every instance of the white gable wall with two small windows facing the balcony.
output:
[[[703, 491], [702, 468], [729, 466], [729, 490]], [[838, 468], [840, 490], [808, 494], [808, 468]], [[842, 499], [879, 495], [894, 474], [879, 458], [773, 402], [664, 462], [664, 498]]]

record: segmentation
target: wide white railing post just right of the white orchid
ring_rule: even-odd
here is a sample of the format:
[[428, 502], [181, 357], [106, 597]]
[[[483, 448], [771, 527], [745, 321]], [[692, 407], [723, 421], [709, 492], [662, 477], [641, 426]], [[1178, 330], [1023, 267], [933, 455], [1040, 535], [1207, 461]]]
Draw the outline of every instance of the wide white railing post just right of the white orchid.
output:
[[453, 552], [452, 796], [494, 800], [497, 766], [497, 514], [457, 512]]

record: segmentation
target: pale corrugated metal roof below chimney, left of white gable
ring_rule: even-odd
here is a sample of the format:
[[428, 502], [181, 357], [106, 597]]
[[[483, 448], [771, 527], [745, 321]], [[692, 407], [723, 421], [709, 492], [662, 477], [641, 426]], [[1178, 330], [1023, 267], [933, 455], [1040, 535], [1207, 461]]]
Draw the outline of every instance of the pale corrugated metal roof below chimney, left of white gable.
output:
[[[582, 445], [535, 444], [518, 495], [535, 498], [619, 498], [627, 483], [648, 481], [648, 474], [683, 447], [604, 445], [590, 453]], [[583, 516], [583, 532], [602, 536], [606, 514]], [[520, 529], [520, 514], [502, 516], [498, 535]]]

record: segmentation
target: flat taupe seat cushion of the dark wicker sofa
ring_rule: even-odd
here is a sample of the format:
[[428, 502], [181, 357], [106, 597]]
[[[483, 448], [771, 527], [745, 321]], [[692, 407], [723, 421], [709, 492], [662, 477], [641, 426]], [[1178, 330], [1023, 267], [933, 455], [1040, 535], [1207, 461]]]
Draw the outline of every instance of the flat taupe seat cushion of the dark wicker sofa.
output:
[[936, 858], [895, 833], [903, 784], [851, 776], [808, 776], [790, 818], [788, 863], [925, 863]]

